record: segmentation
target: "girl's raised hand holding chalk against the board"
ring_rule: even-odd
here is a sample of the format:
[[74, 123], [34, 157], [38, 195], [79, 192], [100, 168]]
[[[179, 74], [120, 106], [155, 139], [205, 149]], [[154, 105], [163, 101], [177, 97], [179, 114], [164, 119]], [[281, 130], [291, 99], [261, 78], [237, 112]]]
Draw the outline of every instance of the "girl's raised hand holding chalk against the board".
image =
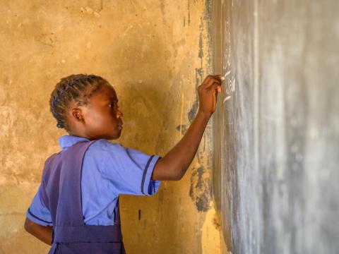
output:
[[212, 115], [217, 104], [218, 92], [222, 92], [221, 75], [208, 75], [198, 86], [199, 110], [203, 114]]

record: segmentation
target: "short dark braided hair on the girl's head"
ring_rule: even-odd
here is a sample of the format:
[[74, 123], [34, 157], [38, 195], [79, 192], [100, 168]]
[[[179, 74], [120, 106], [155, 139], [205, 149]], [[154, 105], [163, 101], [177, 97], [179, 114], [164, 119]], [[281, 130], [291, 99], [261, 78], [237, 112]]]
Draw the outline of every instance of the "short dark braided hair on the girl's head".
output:
[[107, 81], [93, 74], [76, 74], [61, 78], [49, 99], [50, 110], [57, 119], [57, 128], [65, 128], [69, 131], [66, 121], [69, 103], [75, 101], [78, 106], [88, 104], [88, 99], [100, 89], [103, 83]]

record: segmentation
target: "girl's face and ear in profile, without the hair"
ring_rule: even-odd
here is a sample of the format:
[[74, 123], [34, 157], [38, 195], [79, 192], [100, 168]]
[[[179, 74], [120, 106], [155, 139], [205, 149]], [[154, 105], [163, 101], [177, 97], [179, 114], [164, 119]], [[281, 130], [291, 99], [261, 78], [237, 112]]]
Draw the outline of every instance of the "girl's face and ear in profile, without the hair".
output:
[[[114, 88], [109, 84], [102, 84], [100, 90], [90, 97], [89, 103], [71, 109], [71, 117], [76, 120], [76, 135], [97, 140], [104, 138], [107, 140], [117, 139], [122, 131], [122, 112], [118, 107], [118, 97]], [[80, 120], [77, 119], [77, 111], [81, 109]], [[73, 135], [73, 134], [71, 134]]]

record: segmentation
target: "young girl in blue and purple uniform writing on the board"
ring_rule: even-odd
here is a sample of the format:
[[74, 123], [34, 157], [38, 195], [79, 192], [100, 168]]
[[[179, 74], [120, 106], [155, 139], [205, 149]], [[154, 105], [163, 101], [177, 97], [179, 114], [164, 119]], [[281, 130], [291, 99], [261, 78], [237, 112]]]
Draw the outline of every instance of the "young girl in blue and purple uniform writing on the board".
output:
[[120, 137], [117, 94], [97, 75], [70, 75], [54, 88], [50, 109], [61, 151], [50, 156], [32, 200], [25, 229], [49, 253], [125, 253], [119, 195], [153, 195], [162, 180], [180, 180], [194, 159], [215, 111], [221, 76], [208, 75], [198, 87], [199, 110], [182, 140], [165, 157], [110, 143]]

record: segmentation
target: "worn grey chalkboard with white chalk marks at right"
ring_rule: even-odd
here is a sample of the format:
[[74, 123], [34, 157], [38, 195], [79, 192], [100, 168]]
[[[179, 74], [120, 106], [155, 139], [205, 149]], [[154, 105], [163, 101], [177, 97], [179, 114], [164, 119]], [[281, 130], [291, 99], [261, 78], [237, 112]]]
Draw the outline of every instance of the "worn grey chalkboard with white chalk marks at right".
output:
[[[339, 252], [339, 1], [215, 1], [213, 195], [232, 253]], [[225, 250], [226, 251], [226, 250]]]

